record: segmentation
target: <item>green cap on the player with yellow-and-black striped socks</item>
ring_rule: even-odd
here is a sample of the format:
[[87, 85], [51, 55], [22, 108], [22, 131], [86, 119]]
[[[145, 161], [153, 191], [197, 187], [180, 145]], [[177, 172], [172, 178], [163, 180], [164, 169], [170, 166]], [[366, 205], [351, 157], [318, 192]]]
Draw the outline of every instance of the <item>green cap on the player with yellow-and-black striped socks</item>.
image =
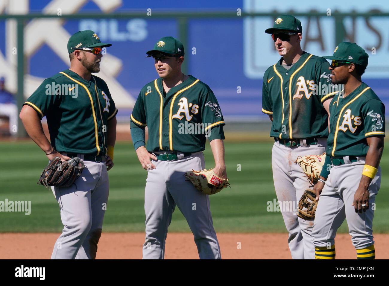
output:
[[363, 67], [367, 67], [369, 55], [356, 43], [341, 42], [336, 46], [332, 56], [324, 56], [328, 60], [349, 61]]

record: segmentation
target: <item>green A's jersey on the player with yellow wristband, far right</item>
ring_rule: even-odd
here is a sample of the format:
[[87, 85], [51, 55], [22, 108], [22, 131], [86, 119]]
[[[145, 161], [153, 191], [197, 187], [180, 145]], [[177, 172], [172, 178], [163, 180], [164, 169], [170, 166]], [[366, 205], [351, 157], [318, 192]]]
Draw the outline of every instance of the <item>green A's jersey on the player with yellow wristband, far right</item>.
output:
[[336, 95], [329, 111], [329, 156], [366, 156], [366, 138], [385, 136], [385, 106], [364, 82], [347, 97]]

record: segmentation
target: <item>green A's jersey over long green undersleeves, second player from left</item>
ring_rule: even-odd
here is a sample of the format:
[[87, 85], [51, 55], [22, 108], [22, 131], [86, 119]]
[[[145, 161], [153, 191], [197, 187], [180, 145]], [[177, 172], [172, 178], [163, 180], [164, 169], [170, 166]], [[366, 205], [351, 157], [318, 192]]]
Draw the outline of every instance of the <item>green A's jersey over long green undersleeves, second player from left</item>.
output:
[[134, 125], [148, 127], [150, 152], [199, 152], [206, 137], [224, 139], [225, 123], [214, 93], [191, 75], [166, 95], [161, 77], [146, 84], [131, 114]]

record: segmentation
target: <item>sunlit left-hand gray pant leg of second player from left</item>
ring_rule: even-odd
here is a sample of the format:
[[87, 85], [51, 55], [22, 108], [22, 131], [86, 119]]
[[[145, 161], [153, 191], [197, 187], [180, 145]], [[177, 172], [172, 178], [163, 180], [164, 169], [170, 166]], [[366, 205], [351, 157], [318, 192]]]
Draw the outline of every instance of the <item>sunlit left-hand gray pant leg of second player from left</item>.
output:
[[143, 259], [163, 259], [168, 226], [172, 221], [175, 203], [166, 188], [168, 161], [153, 161], [145, 187], [146, 238]]

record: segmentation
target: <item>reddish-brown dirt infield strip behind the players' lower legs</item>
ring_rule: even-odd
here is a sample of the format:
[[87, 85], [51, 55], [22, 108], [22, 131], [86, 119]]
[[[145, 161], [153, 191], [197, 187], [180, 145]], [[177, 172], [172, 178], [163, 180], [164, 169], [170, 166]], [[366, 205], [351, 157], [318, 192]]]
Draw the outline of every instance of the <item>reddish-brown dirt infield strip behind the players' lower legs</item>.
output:
[[[59, 233], [1, 233], [0, 259], [48, 259]], [[219, 233], [223, 259], [291, 259], [285, 233]], [[377, 259], [388, 259], [389, 234], [376, 234]], [[97, 259], [141, 259], [144, 233], [103, 233]], [[240, 242], [240, 244], [239, 244]], [[238, 247], [241, 246], [240, 249]], [[336, 258], [356, 259], [350, 235], [338, 234]], [[191, 233], [168, 233], [165, 259], [198, 259]]]

